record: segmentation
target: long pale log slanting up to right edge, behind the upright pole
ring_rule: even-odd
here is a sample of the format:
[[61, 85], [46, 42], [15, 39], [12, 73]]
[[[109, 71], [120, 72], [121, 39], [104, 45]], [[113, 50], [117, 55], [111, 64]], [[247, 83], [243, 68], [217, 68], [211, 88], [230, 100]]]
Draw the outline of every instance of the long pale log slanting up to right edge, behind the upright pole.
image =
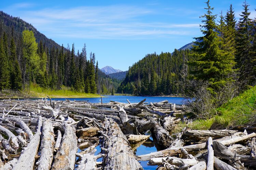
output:
[[[243, 134], [243, 133], [237, 133], [238, 134]], [[236, 134], [234, 134], [234, 136], [227, 136], [227, 137], [223, 137], [221, 139], [216, 139], [214, 141], [219, 141], [221, 142], [223, 145], [229, 145], [232, 143], [236, 143], [242, 140], [246, 140], [248, 138], [252, 138], [254, 136], [256, 136], [255, 133], [251, 133], [248, 135], [242, 135], [242, 136], [237, 136]], [[196, 145], [189, 145], [189, 146], [185, 146], [183, 147], [185, 148], [188, 152], [193, 152], [193, 151], [198, 151], [198, 150], [202, 150], [202, 149], [206, 149], [207, 148], [207, 143], [200, 143], [200, 144], [196, 144]], [[150, 154], [145, 154], [145, 155], [139, 155], [138, 159], [139, 160], [149, 160], [150, 158], [154, 158], [154, 157], [166, 157], [166, 156], [173, 156], [176, 154], [181, 153], [181, 148], [168, 148], [162, 151], [158, 151], [158, 152], [153, 152]]]

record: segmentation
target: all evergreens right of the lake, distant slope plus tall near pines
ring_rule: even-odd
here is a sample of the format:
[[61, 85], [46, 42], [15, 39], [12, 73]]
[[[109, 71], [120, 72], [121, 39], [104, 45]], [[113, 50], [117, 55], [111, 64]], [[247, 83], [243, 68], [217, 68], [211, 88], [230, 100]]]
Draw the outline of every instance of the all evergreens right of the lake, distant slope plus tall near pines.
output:
[[[256, 20], [250, 18], [248, 4], [237, 22], [230, 5], [226, 15], [217, 15], [207, 2], [202, 16], [203, 36], [196, 38], [191, 50], [148, 54], [129, 68], [118, 92], [134, 95], [187, 94], [191, 81], [208, 82], [216, 94], [229, 83], [239, 88], [256, 83]], [[190, 82], [190, 83], [188, 83]], [[190, 85], [188, 85], [190, 84]], [[194, 84], [194, 88], [197, 85]], [[189, 89], [190, 90], [190, 89]]]

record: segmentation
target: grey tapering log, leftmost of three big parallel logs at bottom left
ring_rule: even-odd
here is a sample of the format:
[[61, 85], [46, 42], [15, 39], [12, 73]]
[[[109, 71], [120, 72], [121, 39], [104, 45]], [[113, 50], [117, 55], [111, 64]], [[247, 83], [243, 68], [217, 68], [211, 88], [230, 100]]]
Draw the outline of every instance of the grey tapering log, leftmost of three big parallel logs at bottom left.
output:
[[27, 169], [33, 170], [35, 163], [35, 156], [37, 155], [39, 143], [40, 143], [40, 134], [42, 127], [42, 117], [38, 119], [38, 128], [32, 140], [29, 142], [28, 146], [24, 148], [24, 151], [20, 155], [17, 163], [14, 165], [13, 170]]

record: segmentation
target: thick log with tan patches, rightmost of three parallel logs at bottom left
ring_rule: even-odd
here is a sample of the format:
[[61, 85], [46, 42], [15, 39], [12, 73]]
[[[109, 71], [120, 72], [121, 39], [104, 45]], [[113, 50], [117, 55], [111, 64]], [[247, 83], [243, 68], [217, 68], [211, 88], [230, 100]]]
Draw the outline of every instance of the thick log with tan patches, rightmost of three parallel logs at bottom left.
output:
[[74, 169], [75, 153], [77, 149], [75, 130], [67, 123], [63, 124], [62, 129], [64, 135], [61, 140], [60, 148], [56, 153], [52, 170]]

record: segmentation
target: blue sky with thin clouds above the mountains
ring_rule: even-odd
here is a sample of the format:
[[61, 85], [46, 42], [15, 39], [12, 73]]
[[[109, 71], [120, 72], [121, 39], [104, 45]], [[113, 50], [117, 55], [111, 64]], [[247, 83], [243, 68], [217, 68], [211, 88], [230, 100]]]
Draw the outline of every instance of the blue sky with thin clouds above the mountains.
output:
[[[128, 70], [148, 53], [173, 52], [201, 35], [206, 0], [22, 1], [4, 0], [0, 10], [31, 23], [48, 38], [75, 50], [87, 46], [99, 67]], [[256, 16], [255, 0], [250, 4]], [[211, 0], [214, 13], [225, 14], [232, 3], [237, 19], [243, 0]]]

